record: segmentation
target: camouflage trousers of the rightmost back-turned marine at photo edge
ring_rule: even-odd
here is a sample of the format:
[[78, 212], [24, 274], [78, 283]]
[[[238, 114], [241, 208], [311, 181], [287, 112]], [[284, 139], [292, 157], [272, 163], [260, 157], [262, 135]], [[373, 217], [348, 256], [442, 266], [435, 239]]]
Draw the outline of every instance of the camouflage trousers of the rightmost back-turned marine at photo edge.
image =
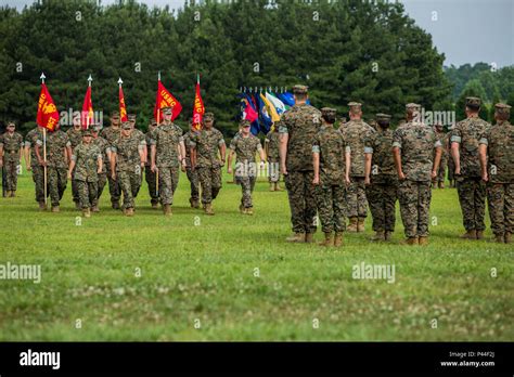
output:
[[489, 217], [494, 235], [514, 233], [514, 182], [487, 185]]

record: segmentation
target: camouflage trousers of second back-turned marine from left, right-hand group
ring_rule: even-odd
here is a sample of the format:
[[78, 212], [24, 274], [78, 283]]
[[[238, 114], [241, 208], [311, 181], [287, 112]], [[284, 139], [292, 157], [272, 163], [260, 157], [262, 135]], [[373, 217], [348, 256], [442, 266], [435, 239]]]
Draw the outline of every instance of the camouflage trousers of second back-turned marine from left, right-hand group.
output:
[[323, 233], [344, 232], [346, 230], [345, 186], [319, 184], [314, 193]]

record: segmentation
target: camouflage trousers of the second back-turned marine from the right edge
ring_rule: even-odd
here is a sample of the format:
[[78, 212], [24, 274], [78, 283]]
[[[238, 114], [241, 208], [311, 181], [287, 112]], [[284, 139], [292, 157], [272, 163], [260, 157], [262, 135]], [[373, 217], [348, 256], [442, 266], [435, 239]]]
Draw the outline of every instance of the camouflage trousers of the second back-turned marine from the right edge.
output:
[[457, 192], [466, 231], [484, 231], [486, 224], [486, 183], [479, 177], [455, 177]]

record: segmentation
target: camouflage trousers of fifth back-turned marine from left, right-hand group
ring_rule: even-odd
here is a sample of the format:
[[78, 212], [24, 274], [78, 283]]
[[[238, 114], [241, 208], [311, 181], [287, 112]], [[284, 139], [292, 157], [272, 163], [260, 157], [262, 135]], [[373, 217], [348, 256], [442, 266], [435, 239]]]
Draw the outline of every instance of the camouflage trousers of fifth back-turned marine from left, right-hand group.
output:
[[400, 181], [400, 213], [407, 237], [426, 237], [431, 211], [431, 181]]

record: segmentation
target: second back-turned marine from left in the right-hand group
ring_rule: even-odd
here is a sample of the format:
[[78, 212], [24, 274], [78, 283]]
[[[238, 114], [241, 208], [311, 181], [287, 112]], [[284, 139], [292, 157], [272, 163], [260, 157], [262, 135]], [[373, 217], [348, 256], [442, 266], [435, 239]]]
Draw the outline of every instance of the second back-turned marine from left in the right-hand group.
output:
[[350, 183], [351, 148], [340, 130], [334, 129], [335, 115], [335, 108], [321, 109], [322, 126], [312, 143], [312, 184], [325, 236], [320, 245], [339, 247], [346, 229], [345, 186]]

